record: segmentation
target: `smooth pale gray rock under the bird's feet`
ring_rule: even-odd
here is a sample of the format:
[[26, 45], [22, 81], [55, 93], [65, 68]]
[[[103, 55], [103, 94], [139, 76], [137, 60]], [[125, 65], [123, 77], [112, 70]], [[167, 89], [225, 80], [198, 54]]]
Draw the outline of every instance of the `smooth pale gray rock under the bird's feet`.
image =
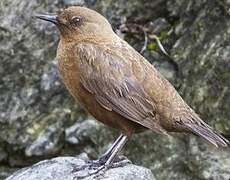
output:
[[[6, 180], [73, 180], [77, 176], [88, 174], [89, 170], [73, 172], [74, 168], [85, 165], [85, 161], [76, 157], [57, 157], [44, 160], [31, 167], [23, 168]], [[98, 177], [97, 177], [98, 176]], [[90, 176], [84, 179], [101, 180], [154, 180], [154, 176], [147, 168], [127, 164], [124, 167], [111, 168], [104, 174]]]

